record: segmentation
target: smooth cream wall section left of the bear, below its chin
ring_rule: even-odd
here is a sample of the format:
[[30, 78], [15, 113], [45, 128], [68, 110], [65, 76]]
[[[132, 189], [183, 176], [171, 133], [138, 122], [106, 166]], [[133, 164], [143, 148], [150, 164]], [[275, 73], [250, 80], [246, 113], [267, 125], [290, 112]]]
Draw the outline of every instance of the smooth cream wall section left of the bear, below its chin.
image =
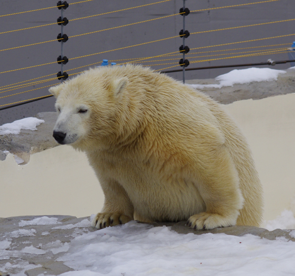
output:
[[17, 165], [12, 154], [0, 161], [0, 217], [98, 213], [104, 202], [85, 153], [58, 146]]

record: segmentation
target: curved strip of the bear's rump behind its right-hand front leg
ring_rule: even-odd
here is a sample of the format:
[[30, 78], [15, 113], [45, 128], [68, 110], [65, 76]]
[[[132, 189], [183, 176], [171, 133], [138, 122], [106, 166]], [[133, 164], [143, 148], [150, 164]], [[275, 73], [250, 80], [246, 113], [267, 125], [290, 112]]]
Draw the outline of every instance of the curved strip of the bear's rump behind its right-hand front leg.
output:
[[225, 136], [225, 145], [230, 150], [236, 165], [244, 198], [243, 209], [240, 210], [236, 225], [259, 226], [263, 215], [263, 188], [247, 140], [220, 104], [202, 93], [199, 93], [199, 96], [208, 102]]

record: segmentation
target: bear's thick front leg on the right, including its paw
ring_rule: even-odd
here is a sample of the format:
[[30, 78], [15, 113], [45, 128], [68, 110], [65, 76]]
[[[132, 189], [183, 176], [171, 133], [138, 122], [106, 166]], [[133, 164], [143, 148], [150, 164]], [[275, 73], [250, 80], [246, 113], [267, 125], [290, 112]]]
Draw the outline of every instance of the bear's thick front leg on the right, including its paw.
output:
[[236, 225], [243, 197], [235, 164], [225, 146], [201, 160], [198, 190], [206, 212], [192, 215], [187, 224], [194, 229], [213, 229]]

